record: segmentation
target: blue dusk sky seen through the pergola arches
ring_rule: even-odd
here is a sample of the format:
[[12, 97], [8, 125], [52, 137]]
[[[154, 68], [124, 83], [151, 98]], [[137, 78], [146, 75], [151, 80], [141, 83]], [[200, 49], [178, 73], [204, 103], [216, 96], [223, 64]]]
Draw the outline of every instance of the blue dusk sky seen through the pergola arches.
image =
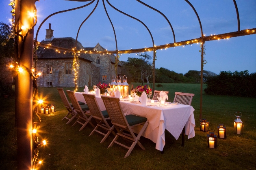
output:
[[[119, 10], [143, 21], [150, 29], [155, 45], [174, 43], [173, 34], [167, 21], [162, 15], [140, 4], [136, 0], [109, 0]], [[184, 0], [143, 0], [148, 5], [158, 9], [166, 15], [174, 28], [176, 42], [199, 38], [200, 26], [192, 8]], [[157, 3], [156, 3], [157, 2]], [[237, 19], [232, 0], [190, 0], [202, 22], [204, 34], [223, 34], [237, 31]], [[48, 15], [87, 4], [88, 2], [72, 2], [65, 0], [40, 0], [37, 6], [37, 25]], [[256, 1], [236, 0], [240, 29], [256, 28]], [[9, 0], [0, 1], [0, 21], [9, 22], [11, 7]], [[82, 21], [91, 13], [96, 1], [85, 8], [54, 15], [41, 27], [38, 40], [45, 38], [48, 23], [54, 30], [54, 37], [76, 38]], [[108, 15], [115, 27], [119, 50], [152, 47], [152, 40], [146, 28], [138, 21], [131, 19], [117, 11], [105, 1]], [[84, 47], [94, 47], [100, 43], [108, 50], [114, 50], [115, 37], [112, 26], [106, 16], [102, 0], [99, 1], [94, 13], [82, 25], [78, 40]], [[220, 71], [256, 72], [256, 35], [230, 38], [229, 40], [208, 41], [205, 43], [207, 64], [204, 70], [219, 74]], [[156, 68], [164, 67], [178, 73], [189, 70], [200, 70], [200, 45], [193, 44], [184, 48], [176, 47], [157, 51]], [[149, 53], [153, 55], [153, 52]], [[137, 57], [135, 54], [123, 54], [120, 60], [127, 57]]]

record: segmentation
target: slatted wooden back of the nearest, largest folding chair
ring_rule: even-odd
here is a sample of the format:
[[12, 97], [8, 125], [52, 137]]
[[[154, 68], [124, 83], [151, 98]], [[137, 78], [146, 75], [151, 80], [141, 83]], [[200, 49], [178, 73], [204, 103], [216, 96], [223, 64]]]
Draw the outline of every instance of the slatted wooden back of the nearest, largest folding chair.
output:
[[119, 98], [113, 98], [108, 96], [101, 96], [101, 98], [112, 123], [127, 127], [128, 123], [121, 108]]

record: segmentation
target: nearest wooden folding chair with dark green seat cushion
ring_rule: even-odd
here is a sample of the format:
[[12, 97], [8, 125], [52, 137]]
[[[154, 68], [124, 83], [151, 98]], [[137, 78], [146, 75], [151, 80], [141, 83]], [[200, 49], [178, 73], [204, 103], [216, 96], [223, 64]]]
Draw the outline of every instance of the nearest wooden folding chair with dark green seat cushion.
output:
[[[111, 119], [111, 122], [117, 130], [117, 135], [115, 136], [111, 144], [109, 144], [108, 148], [113, 146], [114, 143], [119, 144], [122, 147], [125, 147], [126, 149], [128, 149], [128, 152], [124, 156], [125, 158], [130, 155], [130, 153], [132, 152], [132, 149], [135, 147], [136, 144], [138, 144], [139, 147], [141, 147], [141, 149], [145, 150], [141, 142], [139, 142], [139, 139], [143, 134], [143, 132], [145, 131], [146, 127], [148, 126], [149, 122], [147, 118], [139, 117], [135, 115], [125, 116], [121, 108], [119, 98], [113, 98], [108, 96], [101, 96], [101, 98], [104, 102], [106, 110], [108, 111], [108, 115]], [[132, 132], [132, 129], [130, 127], [130, 126], [136, 126], [136, 125], [143, 125], [141, 131], [137, 136], [135, 136], [135, 134]], [[124, 133], [124, 131], [130, 134]], [[119, 136], [126, 138], [129, 141], [132, 141], [132, 145], [128, 147], [124, 144], [117, 142], [117, 139], [119, 138]]]

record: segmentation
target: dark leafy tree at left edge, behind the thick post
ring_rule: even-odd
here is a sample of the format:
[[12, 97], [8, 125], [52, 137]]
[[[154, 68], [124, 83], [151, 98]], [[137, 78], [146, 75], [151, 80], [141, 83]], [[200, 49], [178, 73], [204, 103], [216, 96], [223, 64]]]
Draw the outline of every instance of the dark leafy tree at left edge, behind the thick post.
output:
[[14, 55], [14, 34], [11, 25], [0, 22], [0, 57], [12, 58]]

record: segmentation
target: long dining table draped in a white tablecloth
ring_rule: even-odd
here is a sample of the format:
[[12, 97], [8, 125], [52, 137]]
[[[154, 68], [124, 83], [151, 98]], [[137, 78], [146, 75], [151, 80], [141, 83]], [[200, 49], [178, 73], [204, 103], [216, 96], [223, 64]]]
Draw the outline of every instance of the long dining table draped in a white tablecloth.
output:
[[[84, 92], [76, 92], [76, 99], [80, 102], [85, 102], [85, 98], [82, 96]], [[91, 93], [91, 92], [89, 92]], [[101, 97], [96, 96], [96, 101], [100, 107], [100, 110], [106, 110]], [[158, 103], [148, 102], [146, 106], [143, 106], [139, 101], [131, 101], [129, 98], [120, 99], [121, 108], [124, 115], [137, 115], [146, 117], [149, 121], [148, 127], [145, 129], [142, 136], [152, 140], [156, 143], [156, 149], [163, 151], [165, 146], [165, 130], [171, 133], [176, 140], [178, 140], [182, 130], [184, 128], [184, 134], [188, 135], [188, 138], [195, 136], [195, 118], [194, 108], [189, 105], [169, 103], [158, 106]], [[135, 133], [139, 133], [142, 125], [132, 127]]]

